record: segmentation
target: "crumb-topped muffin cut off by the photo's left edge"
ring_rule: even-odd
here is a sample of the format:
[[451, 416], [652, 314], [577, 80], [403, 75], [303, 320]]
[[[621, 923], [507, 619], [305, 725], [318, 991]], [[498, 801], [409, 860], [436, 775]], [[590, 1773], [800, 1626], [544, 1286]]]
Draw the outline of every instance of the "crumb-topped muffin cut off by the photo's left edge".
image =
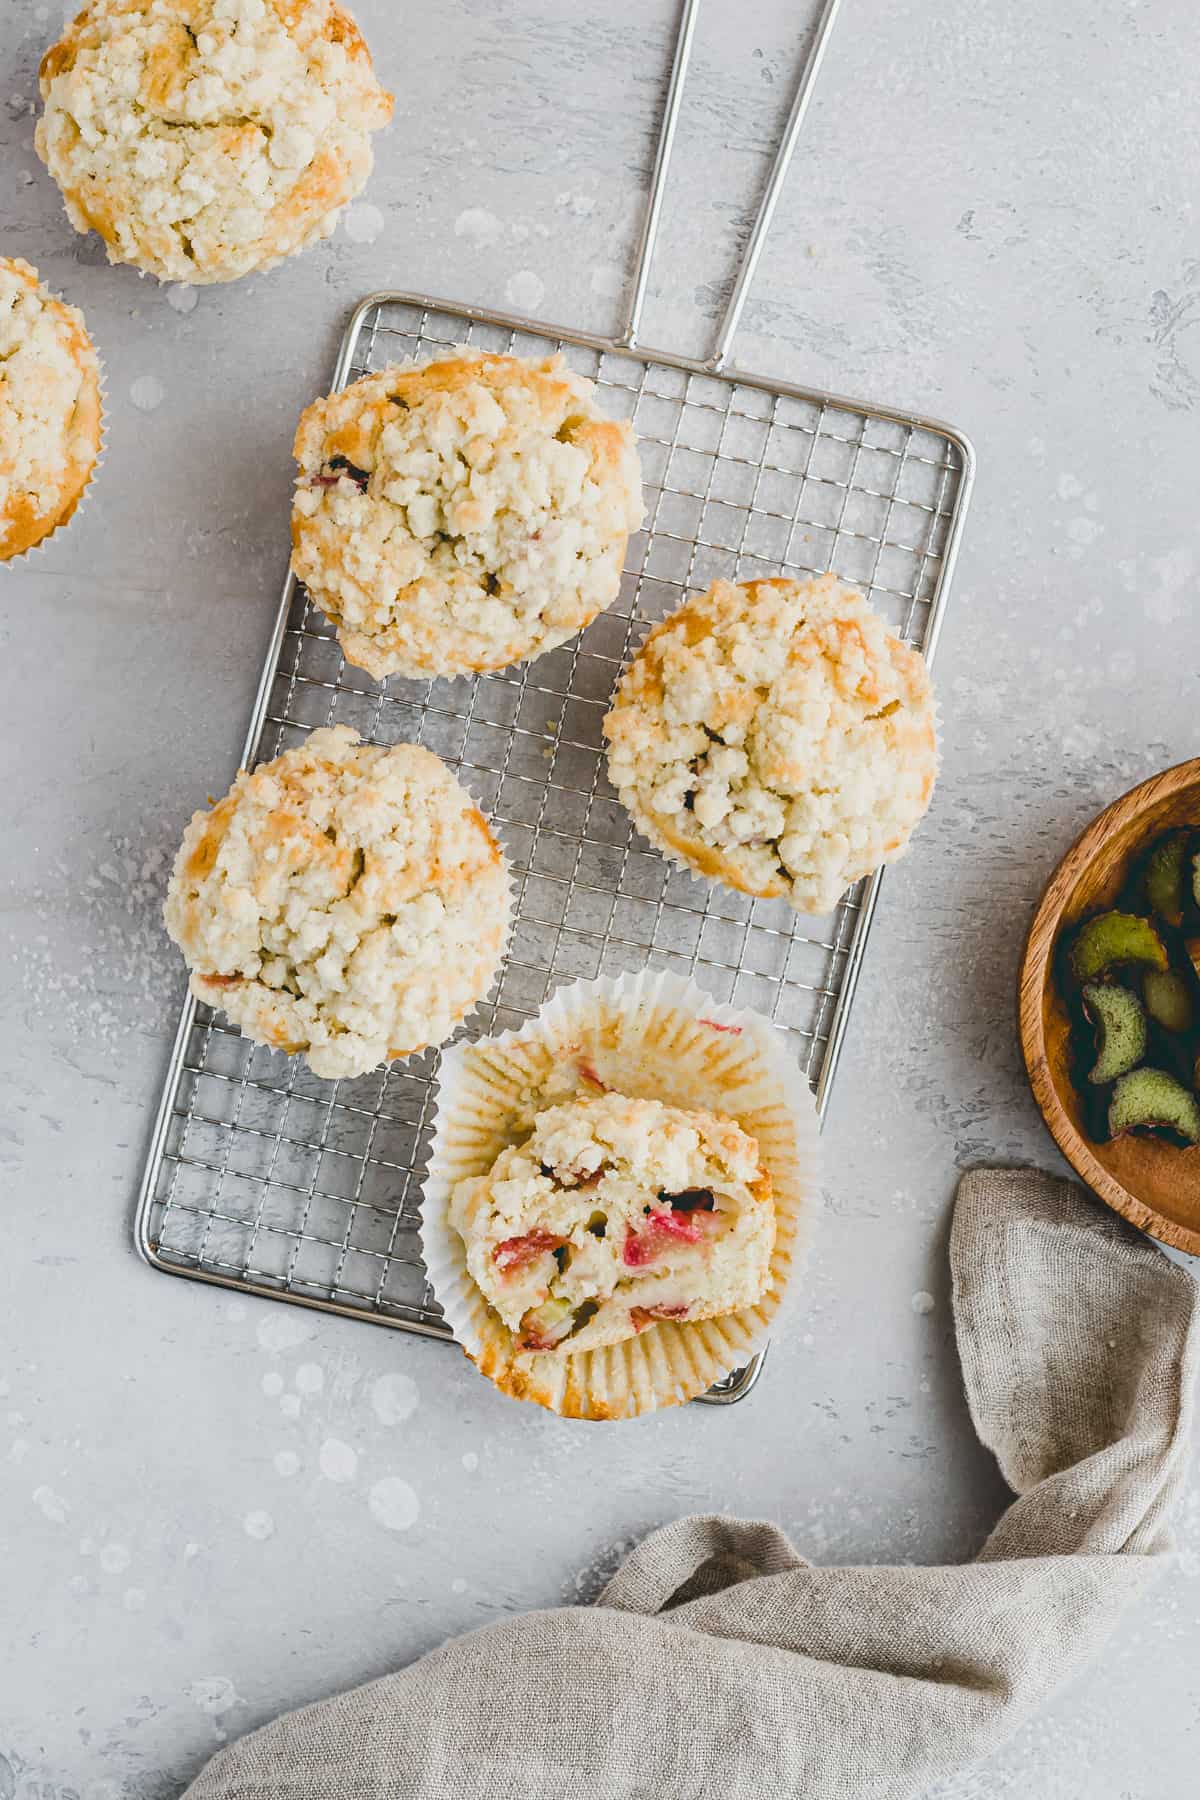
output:
[[67, 524], [101, 454], [101, 364], [83, 313], [0, 257], [0, 562]]

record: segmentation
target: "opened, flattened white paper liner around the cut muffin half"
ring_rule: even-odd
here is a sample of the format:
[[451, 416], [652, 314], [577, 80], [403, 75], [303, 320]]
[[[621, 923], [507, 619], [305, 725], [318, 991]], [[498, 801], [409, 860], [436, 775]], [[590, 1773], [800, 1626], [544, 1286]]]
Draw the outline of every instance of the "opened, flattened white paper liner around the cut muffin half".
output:
[[[540, 1111], [579, 1089], [594, 1093], [596, 1078], [622, 1094], [725, 1112], [757, 1139], [775, 1202], [770, 1283], [754, 1307], [723, 1318], [662, 1321], [574, 1355], [516, 1354], [468, 1273], [450, 1195], [527, 1138]], [[570, 1418], [630, 1418], [691, 1400], [765, 1346], [795, 1292], [817, 1206], [817, 1141], [808, 1080], [783, 1033], [757, 1013], [666, 972], [560, 988], [518, 1031], [443, 1055], [421, 1249], [446, 1323], [504, 1393]]]

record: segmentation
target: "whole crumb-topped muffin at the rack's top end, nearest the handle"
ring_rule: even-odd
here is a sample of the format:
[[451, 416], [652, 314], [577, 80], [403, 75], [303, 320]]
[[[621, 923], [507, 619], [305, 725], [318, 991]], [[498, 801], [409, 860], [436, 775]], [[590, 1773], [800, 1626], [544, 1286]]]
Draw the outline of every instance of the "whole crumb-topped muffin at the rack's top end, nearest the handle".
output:
[[369, 675], [542, 655], [617, 596], [642, 518], [633, 432], [561, 356], [455, 349], [317, 400], [291, 567]]

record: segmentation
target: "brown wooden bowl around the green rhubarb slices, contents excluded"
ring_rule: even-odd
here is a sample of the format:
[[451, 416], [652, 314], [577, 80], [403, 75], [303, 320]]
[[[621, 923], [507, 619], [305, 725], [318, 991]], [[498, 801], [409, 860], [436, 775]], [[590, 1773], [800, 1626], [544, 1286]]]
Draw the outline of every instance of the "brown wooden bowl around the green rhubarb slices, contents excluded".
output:
[[1151, 837], [1200, 824], [1200, 758], [1164, 769], [1092, 819], [1067, 851], [1029, 927], [1020, 970], [1020, 1048], [1054, 1143], [1101, 1201], [1142, 1231], [1200, 1256], [1200, 1147], [1124, 1136], [1092, 1143], [1070, 1082], [1070, 1019], [1054, 979], [1054, 949], [1083, 913], [1112, 905]]

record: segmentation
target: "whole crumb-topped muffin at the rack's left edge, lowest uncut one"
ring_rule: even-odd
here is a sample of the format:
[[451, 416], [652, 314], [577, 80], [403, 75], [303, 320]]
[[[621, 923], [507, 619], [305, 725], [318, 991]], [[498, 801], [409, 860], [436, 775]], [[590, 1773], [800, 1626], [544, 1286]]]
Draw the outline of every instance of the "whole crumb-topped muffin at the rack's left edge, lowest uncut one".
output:
[[164, 914], [196, 999], [336, 1080], [441, 1044], [488, 994], [507, 866], [437, 756], [333, 725], [194, 814]]

